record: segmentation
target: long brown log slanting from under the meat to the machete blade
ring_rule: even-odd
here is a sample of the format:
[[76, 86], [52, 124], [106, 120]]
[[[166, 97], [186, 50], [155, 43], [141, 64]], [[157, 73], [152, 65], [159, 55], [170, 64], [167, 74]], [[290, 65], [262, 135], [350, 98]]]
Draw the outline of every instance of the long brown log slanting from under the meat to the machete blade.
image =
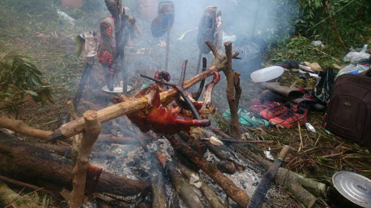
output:
[[247, 207], [250, 197], [239, 189], [231, 179], [224, 175], [217, 166], [210, 164], [204, 158], [197, 155], [197, 153], [190, 148], [178, 135], [166, 136], [174, 149], [179, 150], [185, 154], [189, 160], [202, 169], [208, 176], [210, 176], [225, 192], [241, 207]]

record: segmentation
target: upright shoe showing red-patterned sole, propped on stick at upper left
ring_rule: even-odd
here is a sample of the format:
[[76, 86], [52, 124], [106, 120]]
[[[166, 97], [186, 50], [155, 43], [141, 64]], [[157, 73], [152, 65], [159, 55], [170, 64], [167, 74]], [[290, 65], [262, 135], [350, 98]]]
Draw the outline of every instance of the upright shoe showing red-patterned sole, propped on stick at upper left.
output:
[[105, 18], [100, 23], [100, 40], [98, 60], [102, 65], [112, 66], [116, 58], [115, 23], [112, 17]]

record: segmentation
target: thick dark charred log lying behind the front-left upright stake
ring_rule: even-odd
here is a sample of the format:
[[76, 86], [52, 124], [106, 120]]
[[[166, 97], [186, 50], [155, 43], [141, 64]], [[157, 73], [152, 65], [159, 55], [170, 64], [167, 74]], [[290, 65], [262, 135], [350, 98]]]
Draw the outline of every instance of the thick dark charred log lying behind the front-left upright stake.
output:
[[[35, 147], [0, 131], [0, 174], [13, 179], [46, 180], [72, 189], [72, 162], [50, 150]], [[102, 171], [96, 193], [116, 198], [133, 197], [149, 190], [144, 181], [123, 179]]]

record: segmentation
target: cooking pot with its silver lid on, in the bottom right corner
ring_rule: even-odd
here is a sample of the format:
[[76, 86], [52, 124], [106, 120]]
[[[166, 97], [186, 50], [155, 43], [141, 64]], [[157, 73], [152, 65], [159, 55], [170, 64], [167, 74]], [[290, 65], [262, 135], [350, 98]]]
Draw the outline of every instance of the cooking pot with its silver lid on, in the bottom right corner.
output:
[[371, 208], [371, 180], [355, 172], [340, 171], [332, 176], [333, 186], [327, 192], [331, 208]]

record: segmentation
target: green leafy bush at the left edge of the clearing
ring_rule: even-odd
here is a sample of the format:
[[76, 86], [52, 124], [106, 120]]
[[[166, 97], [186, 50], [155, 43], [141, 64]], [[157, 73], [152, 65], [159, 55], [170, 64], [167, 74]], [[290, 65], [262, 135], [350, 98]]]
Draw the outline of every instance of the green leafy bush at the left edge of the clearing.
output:
[[36, 68], [35, 58], [31, 56], [10, 56], [0, 62], [0, 110], [15, 112], [19, 110], [30, 95], [36, 103], [44, 105], [53, 102], [53, 94], [48, 83], [42, 81], [43, 74]]

